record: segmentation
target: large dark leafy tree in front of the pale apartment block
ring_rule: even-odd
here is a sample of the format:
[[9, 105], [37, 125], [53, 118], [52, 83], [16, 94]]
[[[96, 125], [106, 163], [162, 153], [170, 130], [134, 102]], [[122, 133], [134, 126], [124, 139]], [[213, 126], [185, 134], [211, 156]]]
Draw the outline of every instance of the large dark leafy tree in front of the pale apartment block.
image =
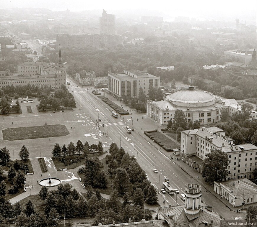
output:
[[226, 179], [228, 172], [226, 170], [228, 166], [227, 154], [222, 152], [221, 149], [211, 149], [211, 152], [206, 154], [206, 158], [203, 162], [202, 177], [205, 182], [222, 181]]

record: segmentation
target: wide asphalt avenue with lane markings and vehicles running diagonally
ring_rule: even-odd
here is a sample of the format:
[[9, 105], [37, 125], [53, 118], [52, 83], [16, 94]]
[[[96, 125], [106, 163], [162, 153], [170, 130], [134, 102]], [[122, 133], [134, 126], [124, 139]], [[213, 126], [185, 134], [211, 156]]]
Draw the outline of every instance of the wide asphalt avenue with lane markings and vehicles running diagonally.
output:
[[[141, 118], [137, 121], [135, 116], [133, 116], [135, 131], [128, 134], [126, 132], [126, 124], [132, 126], [132, 120], [129, 119], [131, 118], [130, 116], [125, 115], [124, 121], [123, 116], [114, 118], [111, 115], [110, 107], [101, 101], [100, 98], [94, 96], [90, 88], [77, 87], [77, 84], [69, 78], [67, 80], [71, 83], [69, 85], [69, 91], [75, 94], [75, 99], [77, 103], [81, 103], [83, 111], [87, 112], [94, 122], [97, 121], [98, 116], [102, 120], [99, 124], [100, 130], [106, 133], [108, 131], [108, 136], [110, 136], [118, 146], [120, 146], [121, 143], [121, 146], [126, 152], [130, 155], [134, 154], [137, 156], [137, 161], [140, 166], [147, 173], [157, 191], [159, 190], [160, 192], [160, 204], [162, 205], [163, 201], [165, 201], [165, 206], [168, 204], [175, 206], [176, 203], [178, 205], [184, 204], [184, 201], [180, 198], [180, 194], [184, 193], [187, 184], [197, 184], [198, 182], [143, 138], [144, 135], [138, 132], [141, 128], [142, 131], [144, 130], [144, 122], [142, 122]], [[104, 127], [102, 127], [101, 123], [104, 124]], [[158, 173], [154, 173], [153, 169], [157, 169]], [[192, 169], [192, 171], [194, 170]], [[161, 193], [160, 189], [162, 188], [162, 182], [165, 176], [169, 178], [170, 185], [179, 190], [179, 194], [175, 193], [174, 195], [169, 195], [168, 193]], [[204, 190], [204, 188], [202, 188], [202, 200], [208, 205], [213, 206], [213, 209], [219, 212], [223, 217], [231, 218], [234, 215], [222, 202], [214, 195]]]

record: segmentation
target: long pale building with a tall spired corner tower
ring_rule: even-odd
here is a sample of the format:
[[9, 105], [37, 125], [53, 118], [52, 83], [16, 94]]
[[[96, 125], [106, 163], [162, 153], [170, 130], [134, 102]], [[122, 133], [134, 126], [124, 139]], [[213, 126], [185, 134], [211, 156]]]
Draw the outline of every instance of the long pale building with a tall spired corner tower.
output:
[[24, 62], [18, 65], [18, 75], [0, 76], [0, 87], [8, 85], [47, 85], [61, 88], [66, 85], [66, 69], [62, 62], [61, 48], [57, 67], [46, 62]]

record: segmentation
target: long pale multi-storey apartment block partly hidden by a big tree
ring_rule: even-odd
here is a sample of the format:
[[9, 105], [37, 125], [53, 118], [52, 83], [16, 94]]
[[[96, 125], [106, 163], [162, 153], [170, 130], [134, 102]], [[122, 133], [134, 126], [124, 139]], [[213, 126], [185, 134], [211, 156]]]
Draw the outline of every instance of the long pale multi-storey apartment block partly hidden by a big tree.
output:
[[184, 157], [195, 155], [205, 160], [211, 149], [221, 149], [228, 155], [228, 176], [226, 180], [253, 178], [257, 167], [257, 147], [253, 144], [233, 144], [225, 131], [217, 127], [181, 131], [180, 152]]

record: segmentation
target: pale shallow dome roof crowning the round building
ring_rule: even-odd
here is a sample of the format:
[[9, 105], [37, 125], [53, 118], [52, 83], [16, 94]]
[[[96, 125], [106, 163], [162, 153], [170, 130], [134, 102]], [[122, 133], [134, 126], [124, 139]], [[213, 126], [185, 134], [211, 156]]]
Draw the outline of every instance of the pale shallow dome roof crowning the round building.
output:
[[207, 103], [215, 99], [214, 96], [199, 90], [186, 89], [166, 96], [169, 101], [180, 103]]

